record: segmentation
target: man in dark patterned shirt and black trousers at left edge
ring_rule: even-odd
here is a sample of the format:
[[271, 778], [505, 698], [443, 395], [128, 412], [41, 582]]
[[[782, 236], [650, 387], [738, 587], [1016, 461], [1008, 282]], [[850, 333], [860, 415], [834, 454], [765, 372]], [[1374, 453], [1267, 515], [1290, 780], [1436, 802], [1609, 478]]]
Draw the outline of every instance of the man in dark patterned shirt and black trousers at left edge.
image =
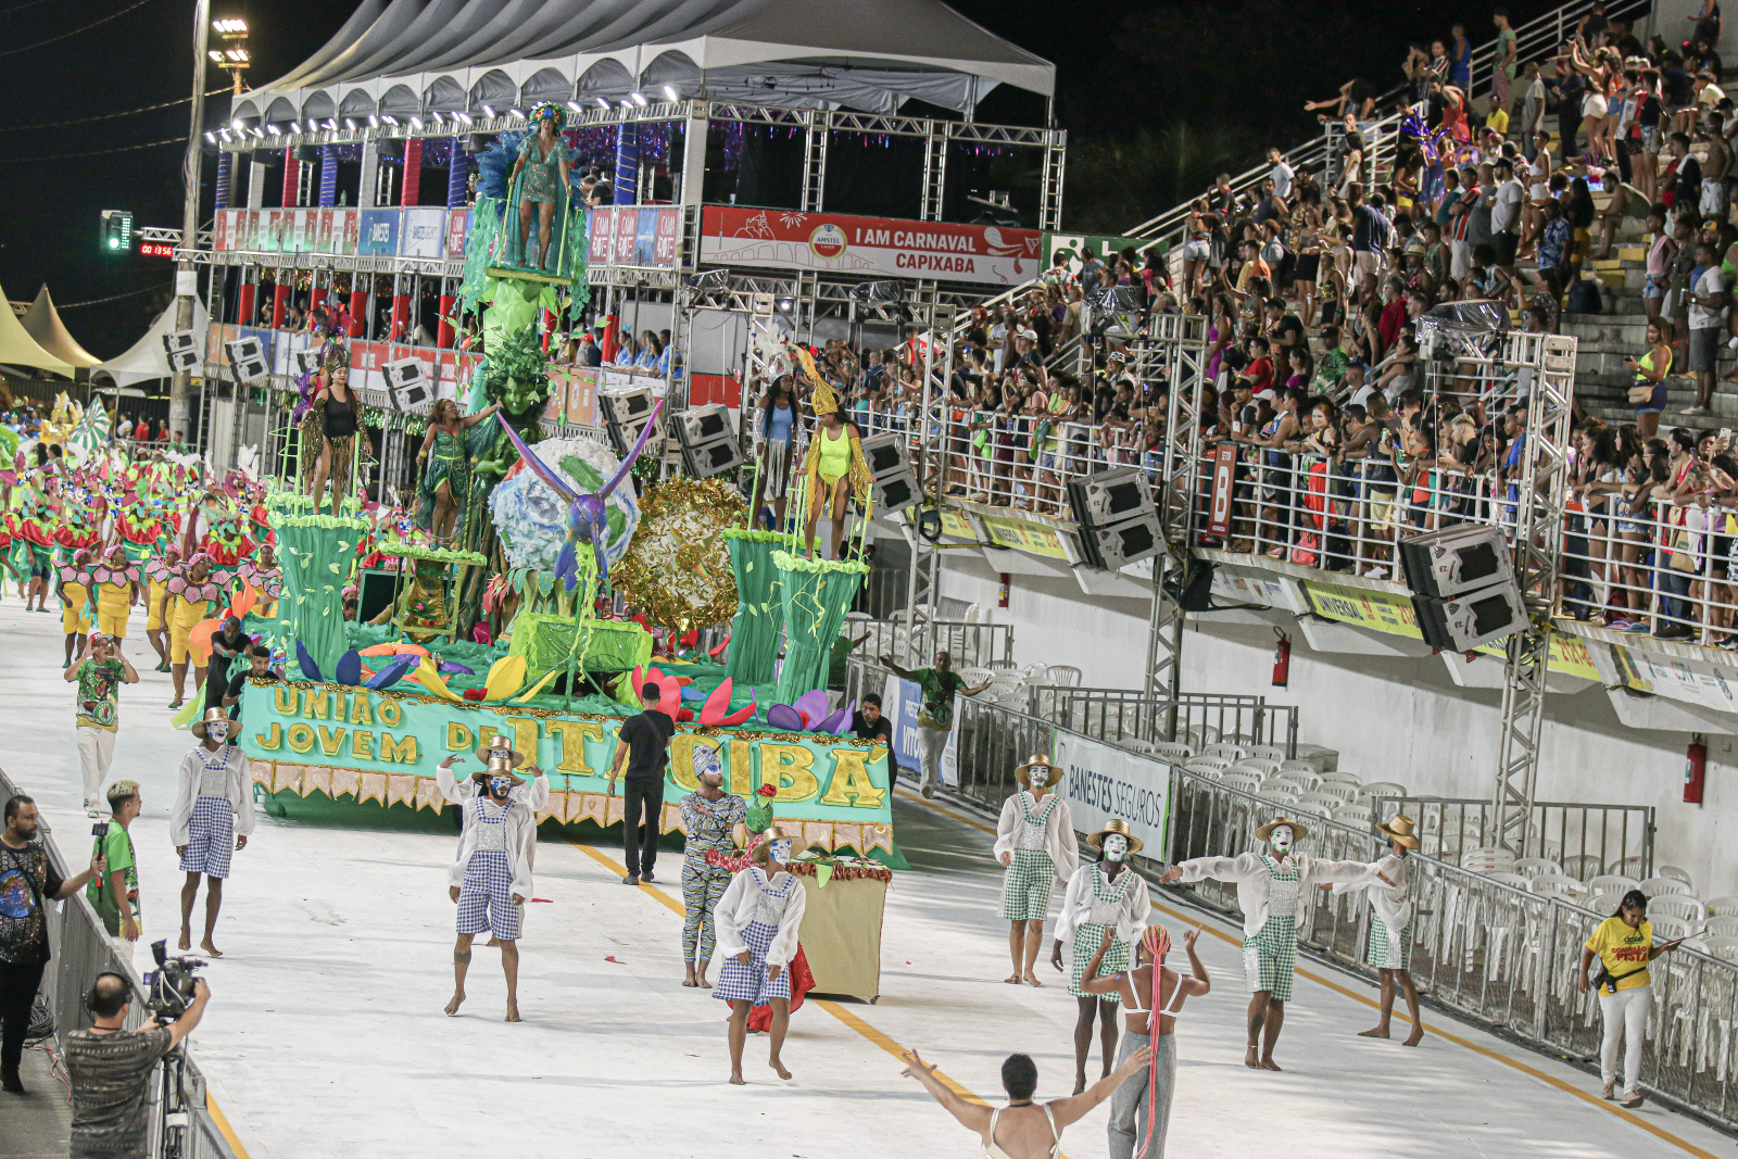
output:
[[103, 858], [90, 858], [85, 872], [63, 881], [36, 844], [36, 803], [19, 792], [5, 803], [0, 831], [0, 1089], [24, 1093], [17, 1063], [24, 1056], [30, 1006], [49, 964], [49, 902], [64, 902], [103, 874]]

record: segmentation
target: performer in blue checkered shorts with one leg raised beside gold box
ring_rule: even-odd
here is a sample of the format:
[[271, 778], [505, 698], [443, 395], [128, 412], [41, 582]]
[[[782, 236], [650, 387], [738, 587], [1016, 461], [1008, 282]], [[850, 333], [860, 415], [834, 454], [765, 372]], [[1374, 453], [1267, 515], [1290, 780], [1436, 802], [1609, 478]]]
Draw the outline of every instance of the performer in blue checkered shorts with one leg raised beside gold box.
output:
[[713, 997], [730, 1003], [730, 1083], [744, 1086], [742, 1044], [749, 1036], [749, 1010], [772, 1006], [772, 1055], [766, 1062], [789, 1079], [779, 1053], [791, 1027], [791, 959], [803, 928], [808, 895], [787, 869], [791, 836], [773, 825], [749, 851], [749, 865], [718, 900], [718, 952], [725, 966]]

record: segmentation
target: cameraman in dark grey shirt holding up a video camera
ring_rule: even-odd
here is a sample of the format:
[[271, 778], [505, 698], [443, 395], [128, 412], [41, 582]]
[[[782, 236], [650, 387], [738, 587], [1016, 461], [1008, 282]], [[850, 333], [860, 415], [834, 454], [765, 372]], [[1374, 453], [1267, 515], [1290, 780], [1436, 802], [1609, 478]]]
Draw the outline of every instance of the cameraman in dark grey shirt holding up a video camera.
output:
[[205, 978], [172, 1023], [123, 1030], [132, 982], [99, 973], [87, 1008], [89, 1030], [66, 1036], [66, 1074], [73, 1086], [71, 1159], [144, 1159], [151, 1150], [151, 1069], [200, 1025], [210, 1001]]

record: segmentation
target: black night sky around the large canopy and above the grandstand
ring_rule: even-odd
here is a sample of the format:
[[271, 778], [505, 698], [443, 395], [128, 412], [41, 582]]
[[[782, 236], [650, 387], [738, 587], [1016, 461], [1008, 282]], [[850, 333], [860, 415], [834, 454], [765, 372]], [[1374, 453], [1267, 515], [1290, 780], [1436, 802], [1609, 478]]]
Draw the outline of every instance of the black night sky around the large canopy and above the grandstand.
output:
[[[170, 262], [137, 254], [116, 257], [97, 245], [99, 214], [130, 209], [136, 224], [181, 224], [181, 149], [158, 146], [130, 153], [63, 160], [23, 160], [89, 153], [118, 144], [182, 137], [188, 106], [99, 120], [83, 125], [23, 129], [176, 101], [191, 89], [193, 0], [144, 0], [123, 16], [68, 40], [36, 42], [123, 12], [137, 0], [0, 0], [0, 285], [28, 301], [47, 281], [73, 335], [96, 356], [130, 346], [169, 302]], [[820, 0], [817, 0], [820, 2]], [[852, 3], [831, 0], [848, 19]], [[349, 16], [356, 0], [214, 0], [214, 16], [249, 21], [249, 49], [257, 83], [276, 78], [313, 54]], [[1222, 0], [1135, 3], [1078, 0], [956, 0], [954, 7], [991, 31], [1057, 64], [1057, 116], [1071, 130], [1071, 148], [1131, 141], [1142, 130], [1177, 123], [1218, 134], [1232, 160], [1262, 141], [1291, 144], [1310, 120], [1305, 96], [1331, 96], [1361, 75], [1387, 89], [1399, 82], [1406, 42], [1446, 36], [1455, 19], [1469, 23], [1481, 43], [1491, 35], [1491, 7], [1425, 0], [1376, 5], [1370, 0]], [[1549, 3], [1516, 3], [1517, 21]], [[210, 73], [217, 89], [226, 73]], [[221, 118], [228, 97], [207, 104], [207, 123]], [[1027, 94], [991, 94], [984, 120], [1036, 123], [1043, 103]], [[1085, 160], [1085, 153], [1079, 153]], [[1067, 207], [1090, 207], [1078, 189], [1071, 155]], [[1197, 158], [1211, 165], [1215, 158]], [[207, 189], [216, 163], [207, 155]], [[1192, 170], [1191, 177], [1192, 179]], [[1140, 215], [1168, 209], [1161, 186], [1126, 191]], [[209, 193], [207, 193], [209, 205]], [[1081, 212], [1088, 212], [1083, 209]], [[1126, 212], [1118, 209], [1114, 212]], [[1104, 226], [1104, 222], [1090, 222]], [[1114, 221], [1112, 221], [1114, 224]], [[1133, 224], [1131, 221], [1126, 224]], [[141, 290], [134, 294], [136, 290]], [[66, 304], [129, 294], [78, 309]]]

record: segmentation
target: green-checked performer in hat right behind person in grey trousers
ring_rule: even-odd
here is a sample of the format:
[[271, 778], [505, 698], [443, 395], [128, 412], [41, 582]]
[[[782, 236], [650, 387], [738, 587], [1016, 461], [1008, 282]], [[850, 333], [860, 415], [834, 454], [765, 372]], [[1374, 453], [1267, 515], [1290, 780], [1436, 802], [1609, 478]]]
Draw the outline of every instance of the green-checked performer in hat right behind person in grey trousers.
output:
[[1147, 928], [1147, 881], [1128, 869], [1128, 858], [1140, 851], [1142, 841], [1128, 831], [1128, 822], [1114, 818], [1086, 838], [1098, 853], [1095, 865], [1081, 865], [1069, 878], [1069, 891], [1062, 898], [1062, 917], [1057, 919], [1057, 940], [1050, 949], [1050, 964], [1062, 970], [1062, 944], [1071, 944], [1069, 994], [1079, 1004], [1074, 1020], [1074, 1093], [1086, 1089], [1086, 1055], [1091, 1051], [1091, 1023], [1098, 1018], [1098, 1048], [1104, 1056], [1104, 1074], [1111, 1074], [1116, 1055], [1116, 994], [1095, 996], [1081, 989], [1086, 963], [1111, 930], [1116, 937], [1104, 956], [1105, 970], [1128, 970], [1130, 947]]

